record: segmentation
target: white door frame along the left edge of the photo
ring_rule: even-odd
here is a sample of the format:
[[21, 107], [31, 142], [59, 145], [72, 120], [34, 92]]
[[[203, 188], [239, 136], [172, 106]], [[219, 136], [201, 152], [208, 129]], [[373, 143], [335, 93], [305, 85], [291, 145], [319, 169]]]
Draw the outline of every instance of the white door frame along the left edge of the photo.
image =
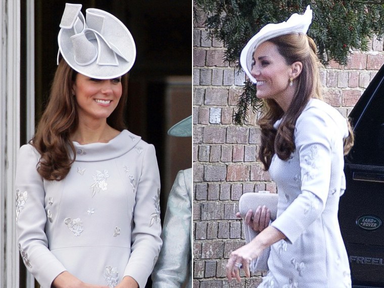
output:
[[19, 287], [14, 177], [20, 147], [20, 0], [0, 3], [0, 279], [11, 288]]

